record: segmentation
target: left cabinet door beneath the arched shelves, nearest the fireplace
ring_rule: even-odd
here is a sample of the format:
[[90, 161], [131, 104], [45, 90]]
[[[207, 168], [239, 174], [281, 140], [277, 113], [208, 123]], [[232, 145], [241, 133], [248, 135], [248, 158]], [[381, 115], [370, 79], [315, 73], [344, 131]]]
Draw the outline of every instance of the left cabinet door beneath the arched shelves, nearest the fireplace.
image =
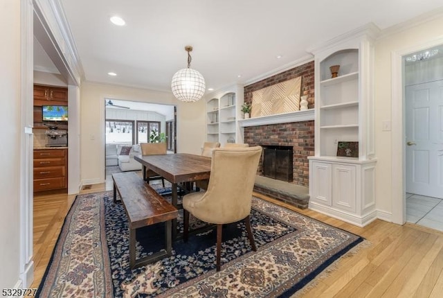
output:
[[331, 164], [323, 162], [312, 162], [311, 198], [313, 202], [318, 202], [327, 206], [332, 204], [332, 180]]

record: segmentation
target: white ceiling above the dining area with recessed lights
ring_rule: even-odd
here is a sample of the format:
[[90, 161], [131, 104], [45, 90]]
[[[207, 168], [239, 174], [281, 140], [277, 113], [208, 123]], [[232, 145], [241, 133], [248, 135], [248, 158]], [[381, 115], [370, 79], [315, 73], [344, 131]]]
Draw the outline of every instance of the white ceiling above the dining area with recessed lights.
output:
[[[219, 89], [304, 60], [309, 47], [369, 22], [383, 30], [443, 5], [442, 0], [60, 1], [86, 80], [165, 91], [187, 65], [188, 44], [194, 46], [191, 67], [203, 74], [207, 88]], [[111, 24], [113, 15], [126, 25]]]

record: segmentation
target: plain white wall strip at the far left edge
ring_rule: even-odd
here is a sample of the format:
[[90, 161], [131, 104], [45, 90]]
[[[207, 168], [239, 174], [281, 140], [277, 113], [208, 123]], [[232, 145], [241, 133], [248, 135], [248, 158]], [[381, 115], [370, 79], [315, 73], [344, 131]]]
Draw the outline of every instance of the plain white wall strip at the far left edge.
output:
[[19, 281], [20, 3], [0, 1], [0, 289]]

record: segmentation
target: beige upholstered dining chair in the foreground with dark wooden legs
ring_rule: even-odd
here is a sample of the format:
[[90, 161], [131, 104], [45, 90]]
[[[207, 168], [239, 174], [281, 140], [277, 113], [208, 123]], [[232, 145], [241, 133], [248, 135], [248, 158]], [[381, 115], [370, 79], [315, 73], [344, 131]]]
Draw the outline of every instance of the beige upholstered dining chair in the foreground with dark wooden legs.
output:
[[189, 214], [217, 225], [217, 271], [220, 270], [221, 231], [224, 224], [244, 220], [255, 251], [251, 229], [252, 191], [262, 147], [213, 150], [208, 190], [183, 197], [183, 240], [188, 240]]

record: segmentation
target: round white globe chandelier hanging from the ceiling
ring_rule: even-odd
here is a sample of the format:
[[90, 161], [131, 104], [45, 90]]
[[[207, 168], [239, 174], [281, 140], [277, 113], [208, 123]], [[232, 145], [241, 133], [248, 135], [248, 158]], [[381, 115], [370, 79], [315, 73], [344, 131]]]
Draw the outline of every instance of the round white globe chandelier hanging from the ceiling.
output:
[[180, 69], [172, 77], [171, 89], [172, 94], [181, 101], [186, 103], [192, 103], [200, 100], [201, 96], [205, 93], [205, 79], [201, 76], [201, 73], [195, 69], [190, 68], [192, 46], [185, 46], [185, 50], [188, 52], [188, 68]]

